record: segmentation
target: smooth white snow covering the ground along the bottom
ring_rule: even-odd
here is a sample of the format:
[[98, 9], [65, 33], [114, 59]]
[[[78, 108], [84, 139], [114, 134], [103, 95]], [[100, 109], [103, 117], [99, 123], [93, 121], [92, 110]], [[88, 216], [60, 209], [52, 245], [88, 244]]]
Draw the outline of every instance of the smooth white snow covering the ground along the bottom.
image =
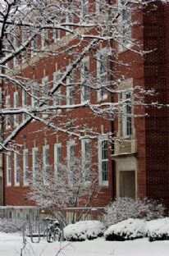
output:
[[[148, 242], [139, 239], [125, 242], [86, 240], [84, 242], [62, 242], [64, 256], [168, 256], [169, 240]], [[22, 236], [19, 234], [0, 233], [0, 256], [21, 255]], [[56, 256], [60, 243], [48, 243], [41, 240], [39, 244], [28, 243], [23, 256]]]

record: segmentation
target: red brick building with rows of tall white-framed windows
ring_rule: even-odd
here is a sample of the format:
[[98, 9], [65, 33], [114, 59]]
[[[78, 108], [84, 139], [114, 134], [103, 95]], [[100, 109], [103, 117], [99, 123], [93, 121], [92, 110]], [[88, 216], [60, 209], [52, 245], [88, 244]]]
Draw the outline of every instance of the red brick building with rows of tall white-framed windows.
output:
[[[149, 9], [148, 9], [149, 8]], [[151, 11], [150, 11], [151, 9]], [[124, 16], [125, 19], [125, 16]], [[112, 50], [116, 48], [118, 60], [130, 63], [129, 67], [121, 66], [116, 62], [110, 64], [110, 54], [107, 53], [106, 64], [111, 72], [107, 72], [106, 80], [110, 80], [110, 75], [126, 75], [126, 79], [120, 82], [118, 89], [121, 94], [113, 96], [107, 92], [102, 92], [100, 100], [100, 90], [85, 91], [85, 86], [78, 88], [72, 94], [71, 86], [64, 88], [60, 94], [65, 98], [57, 97], [56, 100], [64, 105], [73, 105], [89, 100], [90, 103], [106, 103], [110, 101], [122, 101], [130, 98], [130, 89], [140, 85], [144, 89], [155, 89], [155, 94], [144, 94], [144, 103], [148, 106], [127, 106], [126, 115], [116, 117], [115, 121], [106, 120], [98, 115], [94, 116], [89, 107], [77, 109], [54, 110], [54, 112], [44, 112], [39, 117], [44, 117], [44, 121], [52, 118], [53, 124], [57, 122], [62, 130], [69, 132], [66, 134], [62, 130], [46, 129], [39, 121], [30, 121], [16, 135], [16, 142], [20, 147], [16, 147], [17, 153], [7, 153], [4, 156], [4, 204], [31, 206], [34, 205], [26, 198], [29, 190], [27, 171], [32, 170], [32, 176], [36, 176], [37, 158], [46, 159], [44, 164], [52, 164], [61, 161], [62, 158], [70, 158], [71, 150], [78, 155], [85, 150], [85, 144], [91, 147], [92, 161], [98, 165], [94, 171], [98, 171], [98, 184], [101, 186], [101, 194], [98, 199], [91, 203], [91, 206], [104, 207], [116, 196], [148, 197], [162, 199], [169, 207], [169, 164], [168, 164], [168, 119], [169, 111], [168, 90], [169, 85], [169, 7], [158, 3], [156, 8], [146, 7], [135, 15], [131, 15], [131, 21], [139, 21], [138, 25], [128, 26], [128, 36], [137, 39], [141, 50], [152, 51], [144, 55], [130, 51], [130, 46], [125, 41], [121, 44], [111, 42]], [[61, 32], [63, 33], [63, 32]], [[66, 34], [60, 34], [60, 39], [65, 39]], [[53, 40], [51, 31], [48, 32], [48, 39]], [[39, 39], [43, 44], [43, 40]], [[71, 43], [71, 41], [69, 42]], [[109, 47], [109, 45], [108, 45]], [[107, 43], [101, 43], [103, 51], [107, 49]], [[53, 46], [57, 51], [58, 46]], [[134, 48], [138, 50], [138, 48]], [[102, 51], [101, 51], [102, 52]], [[95, 52], [96, 53], [96, 52]], [[112, 57], [113, 61], [113, 57]], [[39, 53], [31, 57], [28, 64], [22, 63], [23, 74], [38, 81], [39, 84], [53, 87], [55, 80], [60, 79], [59, 73], [66, 70], [72, 62], [71, 55], [61, 55], [59, 57], [43, 56]], [[95, 74], [99, 69], [99, 63], [95, 55], [87, 53], [81, 61], [90, 73]], [[74, 76], [67, 76], [64, 83], [75, 83], [76, 80], [83, 80], [81, 75], [85, 68], [81, 65], [75, 69]], [[16, 67], [17, 68], [17, 67]], [[81, 69], [81, 70], [80, 70]], [[102, 73], [102, 75], [104, 75]], [[114, 77], [114, 76], [113, 76]], [[83, 82], [82, 82], [83, 84]], [[34, 87], [36, 88], [36, 87]], [[84, 91], [83, 91], [84, 90]], [[34, 90], [35, 92], [36, 90]], [[33, 93], [34, 93], [33, 92]], [[37, 90], [40, 94], [40, 90]], [[118, 96], [117, 96], [118, 95]], [[74, 98], [75, 96], [75, 98]], [[35, 98], [25, 95], [23, 91], [13, 87], [7, 89], [6, 105], [17, 107], [17, 105], [34, 106]], [[162, 105], [157, 107], [156, 103]], [[154, 103], [154, 104], [152, 104]], [[46, 117], [45, 117], [46, 115]], [[58, 115], [54, 118], [54, 115]], [[8, 117], [6, 117], [7, 119]], [[19, 126], [26, 116], [16, 115], [11, 122], [6, 120], [7, 126], [5, 136], [10, 132], [11, 126]], [[79, 126], [78, 136], [73, 135], [74, 128]], [[98, 139], [80, 139], [80, 135], [89, 134], [89, 128], [100, 134]], [[111, 144], [108, 142], [107, 134], [113, 132], [116, 139]], [[81, 133], [81, 134], [80, 134]], [[86, 137], [87, 138], [87, 137]], [[110, 145], [108, 146], [107, 143]], [[103, 154], [103, 151], [105, 154]], [[19, 157], [18, 157], [19, 156]]]

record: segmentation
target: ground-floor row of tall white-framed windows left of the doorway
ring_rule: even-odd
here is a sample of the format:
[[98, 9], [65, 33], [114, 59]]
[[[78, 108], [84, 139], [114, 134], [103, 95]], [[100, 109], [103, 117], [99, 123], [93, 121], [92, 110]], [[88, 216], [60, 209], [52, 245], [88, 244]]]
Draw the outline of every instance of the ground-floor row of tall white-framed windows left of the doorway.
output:
[[[39, 171], [43, 169], [43, 183], [48, 185], [48, 171], [50, 168], [50, 151], [49, 145], [43, 146], [43, 161], [40, 162], [39, 149], [33, 148], [30, 153], [28, 149], [24, 149], [23, 153], [14, 153], [14, 158], [11, 158], [11, 153], [7, 154], [7, 185], [11, 185], [11, 161], [14, 160], [14, 185], [19, 186], [21, 181], [21, 173], [23, 173], [23, 185], [29, 185], [29, 172], [32, 171], [33, 182], [37, 182]], [[50, 149], [53, 152], [53, 149]], [[91, 163], [89, 163], [90, 142], [82, 140], [81, 144], [82, 158], [85, 160], [85, 168], [91, 171]], [[32, 167], [29, 166], [30, 156], [32, 158]], [[21, 167], [21, 158], [23, 158], [23, 167]], [[71, 168], [71, 162], [75, 158], [75, 142], [67, 143], [67, 164]], [[41, 167], [40, 167], [41, 166]], [[42, 168], [43, 166], [43, 168]], [[23, 172], [22, 172], [23, 170]], [[62, 144], [54, 144], [54, 171], [56, 177], [62, 177]], [[100, 185], [108, 185], [108, 142], [107, 140], [98, 141], [98, 181]], [[88, 181], [88, 177], [86, 177]]]

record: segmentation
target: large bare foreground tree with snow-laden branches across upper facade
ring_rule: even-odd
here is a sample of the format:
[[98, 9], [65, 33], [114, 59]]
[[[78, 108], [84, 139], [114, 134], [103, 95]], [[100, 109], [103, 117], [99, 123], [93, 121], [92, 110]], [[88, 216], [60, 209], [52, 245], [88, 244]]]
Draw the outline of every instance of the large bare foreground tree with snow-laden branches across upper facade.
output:
[[[143, 104], [144, 89], [121, 89], [132, 63], [122, 62], [118, 50], [128, 49], [134, 58], [147, 53], [137, 39], [131, 38], [132, 26], [139, 26], [138, 21], [131, 21], [131, 16], [139, 14], [149, 2], [152, 1], [2, 0], [1, 150], [15, 147], [16, 135], [33, 119], [44, 127], [80, 139], [97, 138], [98, 130], [93, 126], [87, 122], [79, 126], [76, 117], [61, 111], [84, 107], [95, 117], [114, 120], [124, 114], [124, 106]], [[95, 62], [95, 69], [89, 67], [88, 57]], [[54, 62], [57, 58], [62, 62], [57, 66], [56, 76], [43, 80], [41, 85], [34, 70], [42, 64], [40, 60]], [[116, 66], [115, 72], [112, 66]], [[118, 72], [118, 66], [123, 67], [123, 74]], [[13, 107], [5, 98], [11, 90], [22, 94], [21, 102], [16, 99]], [[95, 100], [90, 98], [94, 94]], [[120, 94], [130, 96], [114, 102], [114, 97]], [[11, 119], [16, 126], [10, 124]], [[113, 135], [108, 135], [112, 139]]]

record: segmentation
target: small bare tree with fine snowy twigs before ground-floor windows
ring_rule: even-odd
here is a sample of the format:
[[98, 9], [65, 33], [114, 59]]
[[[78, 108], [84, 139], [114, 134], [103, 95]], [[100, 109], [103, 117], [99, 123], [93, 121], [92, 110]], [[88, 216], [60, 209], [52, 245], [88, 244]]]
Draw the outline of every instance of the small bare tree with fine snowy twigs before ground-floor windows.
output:
[[91, 162], [91, 156], [65, 159], [55, 169], [57, 171], [53, 171], [53, 167], [45, 169], [39, 162], [36, 176], [31, 175], [32, 171], [30, 173], [28, 199], [62, 218], [65, 223], [66, 207], [72, 208], [72, 222], [79, 221], [82, 215], [87, 217], [83, 211], [76, 216], [75, 208], [91, 207], [100, 193], [98, 173], [96, 165]]

